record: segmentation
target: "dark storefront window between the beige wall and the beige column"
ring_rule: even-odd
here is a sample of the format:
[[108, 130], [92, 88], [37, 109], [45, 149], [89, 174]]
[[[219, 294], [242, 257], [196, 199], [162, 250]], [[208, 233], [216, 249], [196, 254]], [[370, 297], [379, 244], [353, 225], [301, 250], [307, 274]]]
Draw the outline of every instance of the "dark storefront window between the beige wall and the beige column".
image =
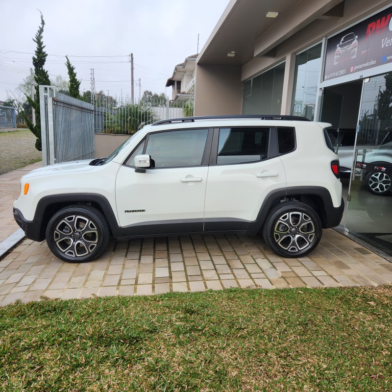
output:
[[244, 83], [243, 114], [280, 114], [285, 64]]

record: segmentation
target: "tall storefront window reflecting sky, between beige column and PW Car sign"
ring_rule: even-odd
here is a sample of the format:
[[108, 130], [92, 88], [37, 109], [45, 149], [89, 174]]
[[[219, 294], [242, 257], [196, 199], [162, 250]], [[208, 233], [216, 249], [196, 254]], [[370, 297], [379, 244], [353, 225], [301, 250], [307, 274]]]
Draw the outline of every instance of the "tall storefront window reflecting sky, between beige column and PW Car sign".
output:
[[295, 57], [291, 114], [314, 120], [321, 69], [321, 43]]

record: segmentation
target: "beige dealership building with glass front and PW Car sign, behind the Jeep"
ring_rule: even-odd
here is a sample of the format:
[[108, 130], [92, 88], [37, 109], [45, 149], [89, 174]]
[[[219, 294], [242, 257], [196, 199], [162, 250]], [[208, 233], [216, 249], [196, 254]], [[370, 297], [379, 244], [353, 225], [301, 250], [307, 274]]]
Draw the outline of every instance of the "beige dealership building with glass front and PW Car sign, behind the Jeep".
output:
[[231, 0], [196, 60], [195, 115], [233, 114], [331, 123], [356, 168], [342, 230], [392, 255], [390, 1]]

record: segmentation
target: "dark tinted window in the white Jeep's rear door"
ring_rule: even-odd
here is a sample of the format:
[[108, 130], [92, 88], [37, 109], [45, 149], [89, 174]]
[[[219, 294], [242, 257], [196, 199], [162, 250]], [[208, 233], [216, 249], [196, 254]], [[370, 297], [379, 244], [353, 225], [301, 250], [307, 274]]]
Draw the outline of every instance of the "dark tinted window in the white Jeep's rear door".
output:
[[267, 158], [269, 128], [221, 128], [217, 164], [257, 162]]

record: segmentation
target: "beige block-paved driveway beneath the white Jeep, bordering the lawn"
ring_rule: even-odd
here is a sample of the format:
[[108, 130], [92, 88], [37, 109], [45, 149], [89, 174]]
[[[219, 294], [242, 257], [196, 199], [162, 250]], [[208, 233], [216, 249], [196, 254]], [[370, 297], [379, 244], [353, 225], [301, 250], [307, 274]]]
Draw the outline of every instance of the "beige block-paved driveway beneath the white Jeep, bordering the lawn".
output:
[[25, 240], [0, 261], [0, 305], [15, 300], [196, 292], [229, 287], [391, 284], [392, 264], [335, 230], [308, 257], [272, 253], [260, 236], [112, 240], [93, 262], [58, 260], [46, 242]]

